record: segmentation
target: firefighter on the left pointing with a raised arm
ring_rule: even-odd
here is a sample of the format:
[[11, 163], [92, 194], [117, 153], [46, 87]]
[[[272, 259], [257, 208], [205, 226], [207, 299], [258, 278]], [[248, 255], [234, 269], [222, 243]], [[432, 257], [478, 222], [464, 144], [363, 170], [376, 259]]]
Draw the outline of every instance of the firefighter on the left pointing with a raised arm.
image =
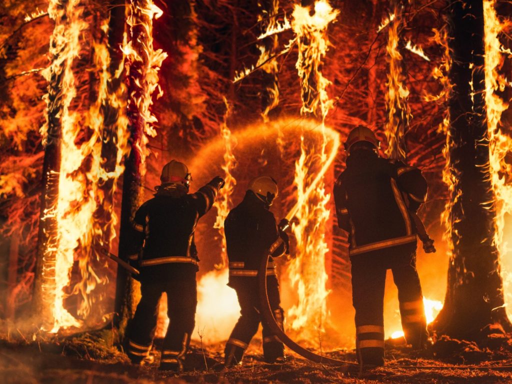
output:
[[[126, 352], [139, 364], [151, 349], [158, 302], [167, 294], [169, 326], [160, 359], [161, 370], [182, 371], [197, 306], [198, 256], [194, 231], [213, 205], [224, 180], [215, 177], [195, 194], [185, 164], [172, 160], [162, 169], [155, 197], [137, 210], [133, 221], [131, 264], [140, 268], [141, 299], [126, 330]], [[130, 252], [130, 253], [132, 253]]]

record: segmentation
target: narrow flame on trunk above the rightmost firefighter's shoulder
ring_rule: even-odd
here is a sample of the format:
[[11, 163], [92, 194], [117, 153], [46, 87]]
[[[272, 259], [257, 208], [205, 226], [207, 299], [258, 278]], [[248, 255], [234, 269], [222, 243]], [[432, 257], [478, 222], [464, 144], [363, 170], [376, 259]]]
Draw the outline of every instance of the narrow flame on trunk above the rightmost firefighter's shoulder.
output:
[[[398, 6], [394, 13], [398, 15]], [[407, 103], [409, 90], [404, 84], [405, 75], [402, 69], [402, 55], [398, 50], [399, 31], [401, 29], [402, 17], [397, 16], [390, 22], [389, 40], [386, 51], [388, 53], [388, 92], [386, 93], [386, 104], [388, 109], [388, 121], [385, 127], [388, 138], [386, 155], [388, 158], [404, 159], [406, 157], [404, 147], [404, 134], [411, 119], [411, 111]]]

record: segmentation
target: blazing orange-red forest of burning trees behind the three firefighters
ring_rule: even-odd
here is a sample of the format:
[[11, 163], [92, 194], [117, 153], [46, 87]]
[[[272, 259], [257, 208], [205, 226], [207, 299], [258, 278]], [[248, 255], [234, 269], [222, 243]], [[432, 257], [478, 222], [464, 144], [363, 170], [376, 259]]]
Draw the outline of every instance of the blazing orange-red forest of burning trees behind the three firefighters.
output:
[[[162, 166], [178, 159], [191, 169], [192, 189], [215, 175], [226, 179], [197, 228], [196, 324], [204, 339], [225, 340], [239, 311], [225, 286], [223, 220], [248, 181], [268, 174], [280, 187], [276, 217], [298, 203], [290, 260], [278, 262], [287, 331], [313, 347], [319, 332], [330, 347], [351, 347], [347, 234], [336, 225], [332, 188], [345, 167], [341, 143], [364, 124], [381, 140], [382, 156], [406, 159], [428, 180], [419, 213], [438, 251], [418, 249], [418, 270], [432, 321], [445, 300], [453, 305], [446, 280], [456, 289], [479, 268], [457, 248], [474, 236], [464, 234], [458, 205], [472, 181], [458, 166], [467, 138], [454, 131], [456, 81], [471, 85], [484, 127], [472, 161], [485, 173], [477, 204], [490, 224], [477, 240], [490, 247], [489, 273], [503, 279], [505, 302], [495, 312], [504, 313], [512, 298], [511, 9], [483, 1], [484, 54], [464, 78], [450, 5], [2, 2], [2, 317], [20, 321], [37, 307], [36, 322], [51, 332], [109, 323], [117, 266], [98, 249], [118, 252], [124, 218], [152, 197]], [[401, 329], [395, 296], [388, 281], [390, 336]], [[160, 312], [163, 335], [163, 305]], [[506, 328], [498, 317], [492, 321]]]

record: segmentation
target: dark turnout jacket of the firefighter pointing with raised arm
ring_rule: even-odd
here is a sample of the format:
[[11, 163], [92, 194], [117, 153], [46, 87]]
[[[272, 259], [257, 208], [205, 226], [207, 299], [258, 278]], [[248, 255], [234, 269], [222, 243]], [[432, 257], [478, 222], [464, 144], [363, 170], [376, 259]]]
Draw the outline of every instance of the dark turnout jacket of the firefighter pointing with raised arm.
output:
[[132, 252], [136, 254], [131, 259], [138, 258], [141, 273], [145, 267], [176, 270], [183, 263], [198, 269], [194, 231], [199, 218], [212, 207], [218, 190], [216, 179], [195, 194], [186, 194], [176, 185], [161, 186], [153, 199], [140, 206], [133, 220]]

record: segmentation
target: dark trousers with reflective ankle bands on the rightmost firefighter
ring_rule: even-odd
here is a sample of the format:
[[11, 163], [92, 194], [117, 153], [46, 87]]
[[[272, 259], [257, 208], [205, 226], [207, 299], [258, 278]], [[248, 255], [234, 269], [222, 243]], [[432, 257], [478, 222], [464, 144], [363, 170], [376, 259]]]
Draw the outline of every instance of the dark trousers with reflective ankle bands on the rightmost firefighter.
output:
[[387, 248], [356, 255], [352, 262], [352, 302], [355, 308], [356, 350], [360, 364], [384, 364], [384, 288], [391, 269], [398, 288], [402, 328], [408, 344], [417, 349], [429, 337], [423, 294], [416, 270], [416, 252]]

